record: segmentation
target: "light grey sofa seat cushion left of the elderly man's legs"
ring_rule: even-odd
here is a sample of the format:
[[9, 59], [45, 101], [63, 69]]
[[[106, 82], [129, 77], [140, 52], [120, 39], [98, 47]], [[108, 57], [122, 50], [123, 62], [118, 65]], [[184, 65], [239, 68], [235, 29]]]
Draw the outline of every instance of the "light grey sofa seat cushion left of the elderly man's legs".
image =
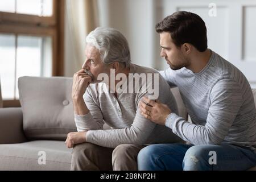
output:
[[[0, 171], [70, 170], [71, 152], [72, 149], [68, 149], [63, 141], [35, 140], [18, 144], [0, 144]], [[44, 156], [46, 164], [43, 164]]]

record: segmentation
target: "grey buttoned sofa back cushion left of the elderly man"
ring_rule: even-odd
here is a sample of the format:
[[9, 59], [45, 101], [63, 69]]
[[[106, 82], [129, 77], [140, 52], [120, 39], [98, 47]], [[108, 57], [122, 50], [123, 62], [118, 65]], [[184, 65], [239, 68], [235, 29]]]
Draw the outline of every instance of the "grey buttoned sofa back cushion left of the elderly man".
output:
[[72, 105], [73, 78], [20, 77], [19, 98], [24, 134], [30, 140], [65, 140], [76, 131]]

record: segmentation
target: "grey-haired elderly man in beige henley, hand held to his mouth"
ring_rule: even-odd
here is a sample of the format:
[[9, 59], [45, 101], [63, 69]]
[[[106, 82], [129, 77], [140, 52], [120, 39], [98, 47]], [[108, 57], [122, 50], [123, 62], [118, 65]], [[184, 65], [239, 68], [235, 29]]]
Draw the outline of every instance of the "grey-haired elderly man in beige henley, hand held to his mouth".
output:
[[[69, 133], [66, 140], [67, 147], [73, 147], [71, 169], [136, 170], [138, 152], [145, 144], [180, 142], [171, 129], [156, 125], [138, 110], [139, 101], [152, 96], [150, 88], [154, 86], [159, 92], [154, 99], [177, 112], [164, 78], [154, 69], [131, 64], [127, 40], [114, 28], [96, 28], [86, 37], [86, 43], [86, 61], [73, 77], [79, 132]], [[145, 73], [154, 76], [141, 76]], [[133, 82], [138, 75], [141, 81]], [[100, 77], [105, 77], [104, 82]], [[112, 129], [103, 130], [104, 123]]]

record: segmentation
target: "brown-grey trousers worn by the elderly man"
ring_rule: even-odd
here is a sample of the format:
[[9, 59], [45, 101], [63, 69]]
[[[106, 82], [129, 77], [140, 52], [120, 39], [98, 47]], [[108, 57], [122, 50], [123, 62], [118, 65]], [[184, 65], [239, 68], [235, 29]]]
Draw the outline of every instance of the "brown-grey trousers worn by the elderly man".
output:
[[92, 143], [77, 144], [72, 151], [72, 171], [137, 171], [137, 155], [145, 146], [120, 144], [116, 148]]

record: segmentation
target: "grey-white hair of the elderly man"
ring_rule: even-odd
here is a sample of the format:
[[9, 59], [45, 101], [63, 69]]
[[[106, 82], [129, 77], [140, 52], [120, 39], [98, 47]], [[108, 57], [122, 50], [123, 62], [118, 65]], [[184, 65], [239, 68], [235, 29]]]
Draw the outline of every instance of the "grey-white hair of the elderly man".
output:
[[111, 64], [115, 61], [130, 67], [131, 55], [129, 44], [118, 30], [108, 27], [98, 27], [88, 36], [86, 43], [96, 47], [101, 54], [101, 60], [105, 64]]

